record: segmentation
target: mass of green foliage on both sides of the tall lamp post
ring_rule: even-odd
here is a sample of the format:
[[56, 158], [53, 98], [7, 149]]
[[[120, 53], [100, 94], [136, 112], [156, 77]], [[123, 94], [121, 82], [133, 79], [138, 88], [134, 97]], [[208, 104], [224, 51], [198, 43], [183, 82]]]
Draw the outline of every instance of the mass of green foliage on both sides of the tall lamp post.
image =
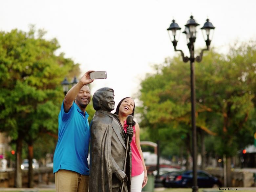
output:
[[[206, 52], [195, 63], [196, 126], [214, 138], [205, 139], [214, 142], [206, 145], [209, 153], [230, 157], [253, 142], [255, 61], [256, 42], [249, 42], [234, 45], [227, 55]], [[181, 146], [191, 150], [189, 67], [180, 57], [167, 58], [141, 82], [140, 125], [150, 127], [151, 140], [160, 139], [161, 147], [173, 146], [166, 154], [177, 154]]]

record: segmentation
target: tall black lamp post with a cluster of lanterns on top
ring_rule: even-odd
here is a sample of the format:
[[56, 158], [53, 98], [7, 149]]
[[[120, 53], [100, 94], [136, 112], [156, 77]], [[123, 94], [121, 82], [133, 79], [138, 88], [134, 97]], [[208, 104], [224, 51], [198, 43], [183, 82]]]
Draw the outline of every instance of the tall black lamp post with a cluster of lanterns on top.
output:
[[[207, 48], [203, 49], [199, 56], [195, 57], [194, 53], [194, 45], [196, 42], [196, 33], [197, 33], [197, 26], [199, 24], [195, 21], [193, 16], [190, 16], [190, 19], [187, 21], [185, 25], [184, 34], [186, 34], [187, 38], [187, 46], [189, 49], [190, 57], [184, 56], [184, 53], [182, 50], [177, 50], [176, 46], [178, 41], [176, 40], [176, 37], [179, 35], [177, 32], [181, 30], [179, 25], [175, 23], [175, 20], [172, 20], [172, 23], [170, 27], [167, 29], [170, 39], [172, 41], [174, 51], [181, 52], [182, 60], [183, 62], [190, 61], [190, 82], [191, 82], [191, 119], [192, 119], [192, 158], [193, 158], [193, 186], [192, 191], [197, 192], [198, 191], [198, 185], [197, 185], [197, 130], [196, 130], [196, 110], [195, 110], [195, 103], [196, 103], [196, 94], [195, 94], [195, 73], [194, 73], [194, 65], [195, 61], [201, 62], [203, 58], [203, 52], [209, 50], [210, 44], [211, 44], [211, 38], [213, 35], [213, 30], [215, 27], [213, 27], [212, 23], [209, 22], [209, 19], [206, 20], [204, 23], [202, 29], [202, 32], [204, 33], [204, 40], [206, 43]], [[178, 38], [177, 38], [178, 39]]]

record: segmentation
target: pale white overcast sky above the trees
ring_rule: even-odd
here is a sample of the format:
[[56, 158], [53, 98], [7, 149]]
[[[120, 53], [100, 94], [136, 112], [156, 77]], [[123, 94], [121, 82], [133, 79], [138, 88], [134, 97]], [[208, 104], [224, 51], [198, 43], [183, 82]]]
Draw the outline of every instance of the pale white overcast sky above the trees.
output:
[[[255, 6], [254, 0], [2, 0], [0, 30], [28, 31], [29, 24], [45, 29], [46, 38], [56, 37], [59, 52], [80, 63], [83, 73], [107, 71], [91, 91], [113, 88], [117, 105], [139, 92], [152, 64], [178, 54], [166, 31], [172, 19], [183, 31], [191, 14], [199, 27], [209, 18], [216, 27], [211, 45], [225, 52], [236, 40], [256, 39]], [[205, 46], [201, 32], [195, 46]], [[177, 49], [188, 54], [183, 34]]]

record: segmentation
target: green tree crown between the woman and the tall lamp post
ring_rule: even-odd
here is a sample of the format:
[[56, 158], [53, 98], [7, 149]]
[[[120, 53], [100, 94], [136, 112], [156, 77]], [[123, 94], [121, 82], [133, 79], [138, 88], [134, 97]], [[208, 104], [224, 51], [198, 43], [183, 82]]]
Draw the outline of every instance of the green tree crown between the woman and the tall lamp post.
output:
[[[161, 138], [162, 155], [180, 155], [177, 148], [184, 148], [185, 152], [190, 153], [190, 145], [186, 145], [191, 141], [189, 65], [179, 58], [167, 58], [162, 66], [156, 65], [155, 70], [156, 74], [148, 74], [141, 82], [141, 127], [151, 128], [152, 141]], [[172, 147], [171, 151], [164, 150], [171, 141], [179, 143], [179, 147]]]

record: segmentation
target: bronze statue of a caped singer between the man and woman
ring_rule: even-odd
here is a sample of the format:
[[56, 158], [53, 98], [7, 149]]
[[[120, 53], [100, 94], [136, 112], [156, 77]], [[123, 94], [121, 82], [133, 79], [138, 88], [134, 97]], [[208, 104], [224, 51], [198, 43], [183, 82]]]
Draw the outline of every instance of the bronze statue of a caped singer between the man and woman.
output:
[[[93, 107], [96, 112], [91, 122], [89, 191], [120, 192], [124, 182], [123, 191], [129, 192], [131, 148], [129, 145], [125, 157], [126, 133], [118, 116], [110, 113], [115, 108], [114, 90], [108, 87], [98, 89], [93, 95]], [[133, 129], [127, 130], [127, 134], [132, 138]]]

